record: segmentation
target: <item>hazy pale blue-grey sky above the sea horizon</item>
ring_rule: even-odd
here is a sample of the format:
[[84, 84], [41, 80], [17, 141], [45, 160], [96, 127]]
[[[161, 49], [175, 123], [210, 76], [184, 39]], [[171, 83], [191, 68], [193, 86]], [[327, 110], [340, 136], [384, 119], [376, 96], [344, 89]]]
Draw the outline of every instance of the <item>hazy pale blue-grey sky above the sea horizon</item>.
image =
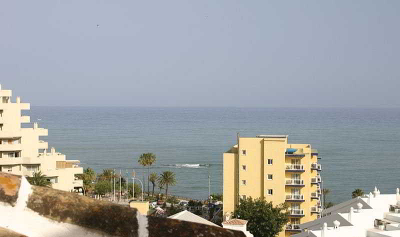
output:
[[400, 107], [397, 0], [0, 1], [32, 105]]

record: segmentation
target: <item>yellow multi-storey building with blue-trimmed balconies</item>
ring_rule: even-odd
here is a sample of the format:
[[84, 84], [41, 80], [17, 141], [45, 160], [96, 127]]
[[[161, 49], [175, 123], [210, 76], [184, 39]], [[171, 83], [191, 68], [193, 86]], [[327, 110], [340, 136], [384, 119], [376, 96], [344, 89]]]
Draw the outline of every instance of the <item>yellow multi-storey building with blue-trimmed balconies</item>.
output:
[[223, 153], [223, 217], [230, 218], [239, 198], [264, 197], [273, 205], [286, 202], [289, 223], [279, 236], [300, 232], [299, 224], [321, 211], [318, 152], [310, 144], [289, 144], [287, 135], [237, 137]]

